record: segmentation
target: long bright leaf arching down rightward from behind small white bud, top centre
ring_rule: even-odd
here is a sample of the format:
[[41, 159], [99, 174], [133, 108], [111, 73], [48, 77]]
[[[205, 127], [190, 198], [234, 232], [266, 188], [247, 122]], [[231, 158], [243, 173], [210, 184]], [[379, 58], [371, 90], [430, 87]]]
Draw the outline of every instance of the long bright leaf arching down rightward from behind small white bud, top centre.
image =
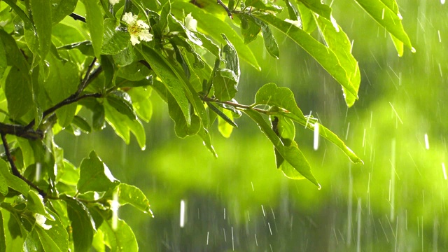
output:
[[[241, 59], [244, 59], [255, 69], [260, 70], [260, 66], [258, 65], [257, 59], [255, 59], [252, 50], [244, 44], [244, 41], [237, 34], [237, 31], [230, 27], [228, 23], [187, 2], [174, 1], [172, 3], [172, 12], [174, 13], [175, 11], [179, 14], [181, 14], [182, 11], [185, 13], [191, 13], [197, 20], [198, 30], [204, 32], [205, 34], [209, 34], [220, 43], [225, 43], [224, 39], [221, 37], [221, 34], [225, 34], [229, 41], [231, 41], [232, 44], [235, 45], [235, 48], [237, 48]], [[207, 48], [207, 50], [209, 49]]]

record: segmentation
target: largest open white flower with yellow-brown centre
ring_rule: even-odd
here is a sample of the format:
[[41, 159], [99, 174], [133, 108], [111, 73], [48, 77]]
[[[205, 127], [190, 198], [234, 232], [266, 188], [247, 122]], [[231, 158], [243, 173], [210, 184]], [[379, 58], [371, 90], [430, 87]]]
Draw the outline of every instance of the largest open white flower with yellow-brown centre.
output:
[[152, 41], [153, 34], [149, 33], [149, 25], [143, 20], [137, 20], [137, 15], [125, 13], [121, 20], [127, 23], [127, 31], [131, 34], [132, 45], [137, 45], [140, 41]]

